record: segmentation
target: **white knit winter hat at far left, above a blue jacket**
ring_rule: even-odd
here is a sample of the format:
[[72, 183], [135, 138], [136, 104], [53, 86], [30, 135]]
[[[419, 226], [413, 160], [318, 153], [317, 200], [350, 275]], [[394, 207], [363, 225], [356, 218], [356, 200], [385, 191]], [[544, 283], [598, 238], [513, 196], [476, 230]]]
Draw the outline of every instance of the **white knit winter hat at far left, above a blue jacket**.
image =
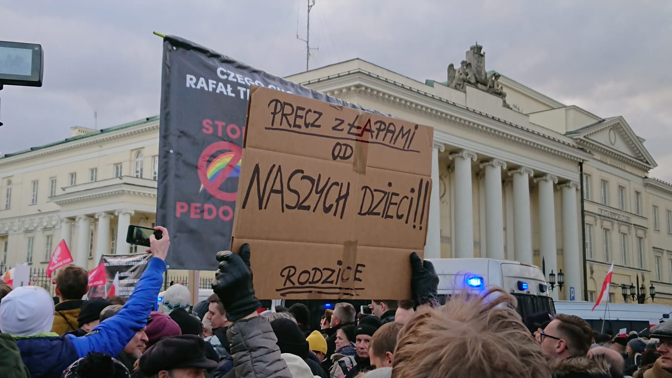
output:
[[17, 287], [2, 299], [0, 331], [11, 336], [35, 336], [54, 325], [54, 299], [37, 286]]

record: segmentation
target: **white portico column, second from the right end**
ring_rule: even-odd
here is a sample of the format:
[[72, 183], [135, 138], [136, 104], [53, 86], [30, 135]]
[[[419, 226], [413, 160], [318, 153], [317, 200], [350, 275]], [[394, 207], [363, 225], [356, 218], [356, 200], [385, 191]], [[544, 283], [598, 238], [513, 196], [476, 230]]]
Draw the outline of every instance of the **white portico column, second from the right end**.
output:
[[[539, 184], [539, 239], [542, 258], [546, 264], [546, 280], [550, 272], [558, 273], [558, 250], [555, 242], [555, 200], [553, 184], [558, 178], [553, 175], [544, 175], [534, 179]], [[556, 289], [550, 295], [558, 300]]]

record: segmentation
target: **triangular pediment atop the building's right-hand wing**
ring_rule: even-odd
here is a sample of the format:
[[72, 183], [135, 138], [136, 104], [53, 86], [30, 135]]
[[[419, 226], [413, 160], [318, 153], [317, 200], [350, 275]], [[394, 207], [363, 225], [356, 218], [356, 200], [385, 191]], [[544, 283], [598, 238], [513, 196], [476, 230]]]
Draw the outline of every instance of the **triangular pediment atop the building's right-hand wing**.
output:
[[653, 156], [644, 147], [643, 139], [635, 135], [622, 116], [600, 120], [566, 135], [586, 149], [640, 169], [648, 171], [657, 167]]

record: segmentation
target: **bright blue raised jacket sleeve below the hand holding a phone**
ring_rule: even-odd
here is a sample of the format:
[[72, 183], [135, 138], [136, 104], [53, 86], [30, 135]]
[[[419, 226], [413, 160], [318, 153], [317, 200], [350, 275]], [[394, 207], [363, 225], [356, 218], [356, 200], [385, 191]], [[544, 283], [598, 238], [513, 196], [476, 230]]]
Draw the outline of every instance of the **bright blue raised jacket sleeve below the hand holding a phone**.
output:
[[86, 336], [67, 335], [71, 337], [80, 358], [89, 352], [103, 352], [116, 356], [136, 332], [146, 326], [147, 317], [157, 303], [161, 291], [165, 268], [163, 260], [151, 258], [133, 294], [119, 313], [106, 319]]

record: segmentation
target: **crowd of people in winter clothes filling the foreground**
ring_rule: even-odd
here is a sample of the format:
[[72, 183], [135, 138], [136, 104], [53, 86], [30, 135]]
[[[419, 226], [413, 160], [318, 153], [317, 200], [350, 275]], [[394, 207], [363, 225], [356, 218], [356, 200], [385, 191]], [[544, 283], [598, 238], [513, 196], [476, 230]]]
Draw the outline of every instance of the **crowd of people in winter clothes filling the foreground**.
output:
[[0, 282], [0, 376], [672, 377], [672, 322], [612, 336], [574, 315], [521, 319], [515, 298], [499, 288], [439, 305], [438, 277], [417, 254], [413, 300], [374, 299], [369, 315], [337, 303], [319, 329], [301, 303], [261, 309], [249, 245], [216, 255], [214, 294], [192, 307], [182, 285], [159, 293], [170, 237], [157, 229], [163, 237], [151, 236], [152, 258], [127, 301], [83, 300], [87, 271], [77, 266], [58, 272], [56, 299]]

